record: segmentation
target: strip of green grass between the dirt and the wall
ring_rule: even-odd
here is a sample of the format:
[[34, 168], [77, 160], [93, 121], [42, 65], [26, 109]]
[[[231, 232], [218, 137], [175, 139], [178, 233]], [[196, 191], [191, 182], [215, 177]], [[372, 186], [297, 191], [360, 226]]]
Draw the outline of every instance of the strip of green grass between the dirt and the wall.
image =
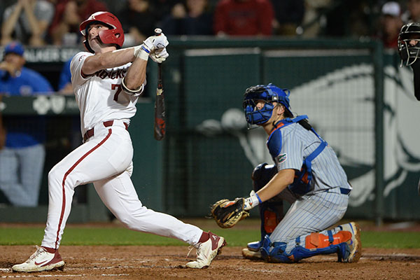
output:
[[[0, 245], [41, 244], [43, 226], [0, 227]], [[259, 239], [259, 230], [235, 229], [221, 230], [212, 228], [212, 232], [223, 235], [228, 246], [246, 246], [249, 241]], [[420, 232], [377, 232], [363, 231], [363, 247], [372, 248], [420, 248]], [[185, 246], [176, 239], [134, 232], [120, 227], [92, 227], [72, 225], [66, 228], [62, 245], [157, 245]]]

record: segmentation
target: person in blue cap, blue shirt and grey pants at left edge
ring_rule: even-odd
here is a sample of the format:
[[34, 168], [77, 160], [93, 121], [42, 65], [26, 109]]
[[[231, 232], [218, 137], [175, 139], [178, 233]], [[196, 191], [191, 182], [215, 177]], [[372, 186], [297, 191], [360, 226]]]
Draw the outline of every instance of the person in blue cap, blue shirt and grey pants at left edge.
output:
[[[0, 94], [50, 94], [52, 87], [41, 74], [27, 69], [24, 48], [12, 42], [0, 63]], [[45, 119], [3, 116], [6, 144], [0, 151], [0, 190], [15, 206], [36, 207], [45, 160]]]

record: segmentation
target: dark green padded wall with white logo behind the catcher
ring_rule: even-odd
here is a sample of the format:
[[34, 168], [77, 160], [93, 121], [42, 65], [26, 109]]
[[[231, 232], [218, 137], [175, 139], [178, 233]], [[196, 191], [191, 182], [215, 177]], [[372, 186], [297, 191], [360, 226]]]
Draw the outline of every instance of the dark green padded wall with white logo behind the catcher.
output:
[[[202, 217], [216, 200], [248, 195], [253, 167], [272, 160], [265, 132], [246, 130], [242, 95], [248, 86], [274, 83], [290, 90], [292, 111], [307, 114], [337, 152], [353, 185], [346, 218], [420, 218], [420, 130], [415, 123], [420, 103], [414, 98], [412, 72], [399, 68], [395, 53], [372, 41], [170, 41], [171, 57], [164, 66], [167, 136], [162, 142], [153, 139], [153, 64], [148, 97], [138, 105], [130, 127], [132, 178], [147, 207]], [[34, 49], [28, 66], [54, 76], [65, 61], [64, 51], [58, 50], [62, 56], [54, 59], [37, 55], [47, 50]], [[66, 97], [69, 104], [71, 98]], [[3, 99], [6, 105], [10, 102], [12, 98]], [[10, 106], [3, 114], [15, 112]], [[48, 111], [50, 120], [77, 116], [74, 110], [57, 112]], [[38, 114], [33, 109], [29, 113]], [[51, 134], [48, 143], [60, 135]], [[46, 173], [39, 208], [43, 211], [48, 200], [45, 178]], [[80, 195], [84, 198], [75, 203], [82, 214], [71, 214], [73, 221], [80, 216], [82, 221], [106, 219], [91, 189], [87, 186]], [[10, 219], [10, 209], [0, 208], [1, 221]]]

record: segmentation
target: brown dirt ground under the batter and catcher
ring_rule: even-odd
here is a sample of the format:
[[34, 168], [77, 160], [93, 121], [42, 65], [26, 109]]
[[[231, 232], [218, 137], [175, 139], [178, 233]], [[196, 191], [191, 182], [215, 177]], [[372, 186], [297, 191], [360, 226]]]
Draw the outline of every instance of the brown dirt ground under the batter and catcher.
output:
[[64, 271], [17, 273], [35, 248], [0, 246], [0, 279], [420, 279], [420, 249], [363, 248], [358, 263], [316, 256], [297, 264], [246, 260], [240, 247], [225, 247], [207, 269], [188, 269], [187, 246], [61, 246]]

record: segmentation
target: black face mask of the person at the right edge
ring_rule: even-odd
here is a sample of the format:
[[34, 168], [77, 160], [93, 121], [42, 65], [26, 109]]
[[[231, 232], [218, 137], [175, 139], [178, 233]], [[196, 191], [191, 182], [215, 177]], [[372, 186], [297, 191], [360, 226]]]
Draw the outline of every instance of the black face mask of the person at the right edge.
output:
[[[412, 45], [410, 41], [414, 41]], [[403, 25], [398, 35], [398, 54], [401, 57], [401, 65], [409, 66], [416, 62], [420, 55], [420, 23], [410, 22]]]

